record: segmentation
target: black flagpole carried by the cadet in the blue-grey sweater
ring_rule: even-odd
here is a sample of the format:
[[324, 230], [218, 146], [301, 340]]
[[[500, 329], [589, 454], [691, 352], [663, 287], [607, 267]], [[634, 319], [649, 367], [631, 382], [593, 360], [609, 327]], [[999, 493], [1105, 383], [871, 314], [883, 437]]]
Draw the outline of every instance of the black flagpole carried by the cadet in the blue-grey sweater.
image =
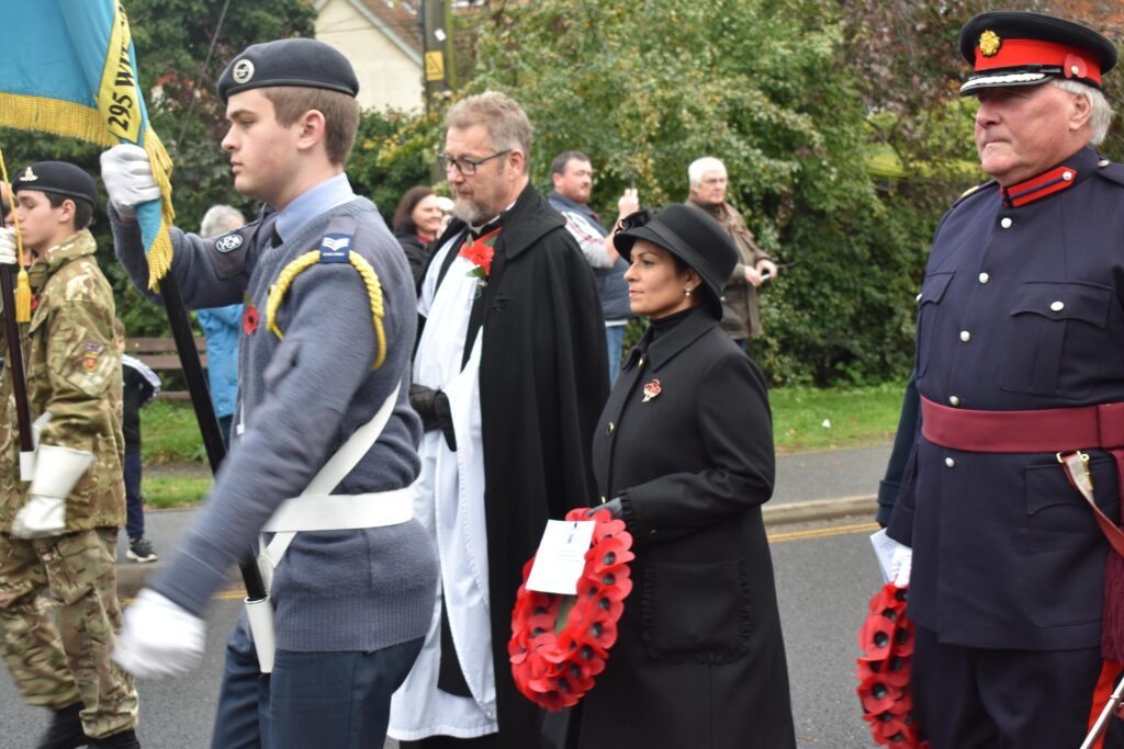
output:
[[[167, 322], [172, 328], [172, 338], [175, 339], [175, 349], [180, 355], [180, 366], [188, 381], [188, 393], [191, 395], [191, 405], [196, 411], [196, 421], [199, 422], [199, 432], [203, 439], [207, 460], [210, 463], [211, 473], [217, 476], [218, 467], [221, 465], [223, 458], [226, 457], [226, 445], [223, 441], [221, 432], [219, 432], [218, 419], [215, 418], [210, 393], [207, 391], [207, 380], [203, 377], [203, 367], [199, 360], [199, 351], [196, 349], [196, 336], [191, 330], [191, 322], [188, 320], [183, 296], [180, 295], [180, 286], [171, 273], [165, 274], [160, 280], [160, 294], [164, 300]], [[262, 573], [257, 568], [257, 560], [252, 550], [238, 561], [238, 569], [242, 572], [243, 585], [246, 587], [246, 597], [251, 602], [264, 600], [268, 595], [265, 583], [262, 581]]]

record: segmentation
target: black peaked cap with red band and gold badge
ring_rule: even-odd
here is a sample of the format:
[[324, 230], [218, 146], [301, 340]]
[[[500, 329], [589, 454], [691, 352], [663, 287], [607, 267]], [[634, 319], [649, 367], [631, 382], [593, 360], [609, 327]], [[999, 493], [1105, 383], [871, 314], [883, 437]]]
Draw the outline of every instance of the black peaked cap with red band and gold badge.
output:
[[1100, 88], [1116, 65], [1116, 47], [1090, 28], [1023, 11], [980, 13], [960, 29], [960, 54], [972, 74], [961, 94], [979, 89], [1039, 85], [1051, 77]]

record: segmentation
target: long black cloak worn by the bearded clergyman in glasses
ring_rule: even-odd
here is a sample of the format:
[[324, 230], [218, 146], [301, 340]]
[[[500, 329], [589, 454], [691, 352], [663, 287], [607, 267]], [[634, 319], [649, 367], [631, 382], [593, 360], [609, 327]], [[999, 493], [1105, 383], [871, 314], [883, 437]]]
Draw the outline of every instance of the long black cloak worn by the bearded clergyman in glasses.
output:
[[[436, 246], [463, 230], [454, 221]], [[546, 521], [593, 495], [588, 446], [609, 378], [593, 274], [562, 217], [529, 185], [504, 216], [483, 303], [480, 412], [498, 746], [533, 749], [544, 713], [511, 678], [511, 610]]]

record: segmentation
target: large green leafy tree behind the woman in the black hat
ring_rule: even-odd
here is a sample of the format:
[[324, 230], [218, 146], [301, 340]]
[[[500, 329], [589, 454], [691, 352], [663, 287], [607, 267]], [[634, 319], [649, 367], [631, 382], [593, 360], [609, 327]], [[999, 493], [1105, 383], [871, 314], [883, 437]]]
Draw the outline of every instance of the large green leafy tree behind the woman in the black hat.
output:
[[[934, 219], [898, 210], [865, 170], [868, 108], [840, 64], [846, 25], [822, 0], [611, 0], [497, 8], [472, 90], [500, 89], [537, 126], [533, 175], [588, 153], [611, 214], [635, 180], [645, 204], [683, 200], [687, 166], [720, 157], [729, 199], [794, 265], [763, 290], [774, 381], [881, 378], [907, 368], [908, 299]], [[918, 220], [919, 219], [919, 220]]]

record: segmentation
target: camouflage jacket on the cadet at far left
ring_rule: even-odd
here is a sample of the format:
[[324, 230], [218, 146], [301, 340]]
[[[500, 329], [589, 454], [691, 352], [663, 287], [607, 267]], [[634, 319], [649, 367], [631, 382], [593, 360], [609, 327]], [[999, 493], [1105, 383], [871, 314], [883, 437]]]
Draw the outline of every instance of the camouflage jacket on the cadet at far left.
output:
[[[121, 357], [114, 335], [114, 293], [94, 249], [93, 235], [82, 230], [35, 259], [29, 270], [31, 321], [20, 325], [31, 420], [45, 411], [52, 417], [39, 444], [94, 456], [67, 499], [67, 531], [125, 524]], [[6, 358], [7, 346], [4, 340]], [[7, 371], [0, 377], [0, 532], [9, 532], [30, 484], [19, 478], [16, 399]]]

